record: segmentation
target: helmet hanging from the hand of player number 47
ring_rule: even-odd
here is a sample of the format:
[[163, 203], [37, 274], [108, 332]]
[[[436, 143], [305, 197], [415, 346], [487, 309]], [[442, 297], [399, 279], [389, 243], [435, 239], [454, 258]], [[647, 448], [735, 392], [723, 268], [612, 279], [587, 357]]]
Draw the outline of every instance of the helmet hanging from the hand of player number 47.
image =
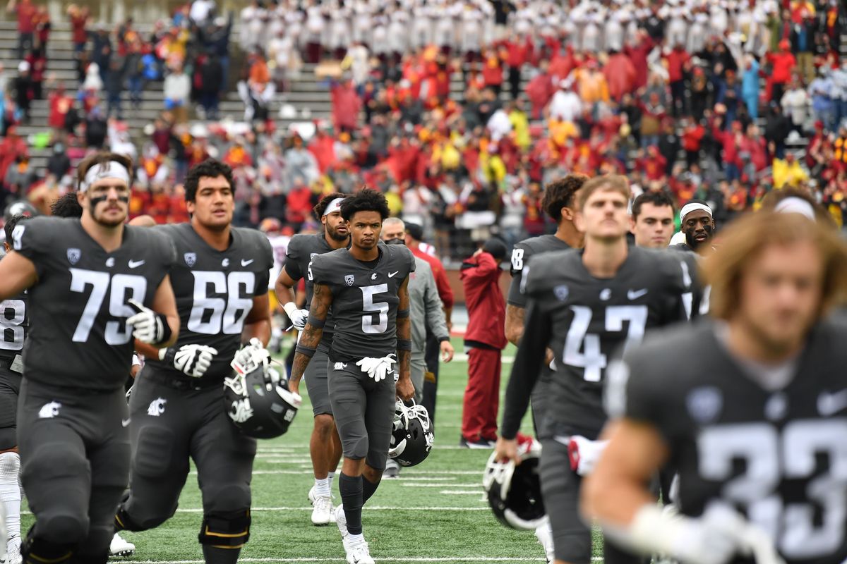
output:
[[521, 463], [515, 466], [512, 460], [502, 462], [492, 453], [482, 485], [498, 521], [510, 528], [534, 530], [546, 516], [539, 474], [541, 444], [518, 435], [518, 454]]

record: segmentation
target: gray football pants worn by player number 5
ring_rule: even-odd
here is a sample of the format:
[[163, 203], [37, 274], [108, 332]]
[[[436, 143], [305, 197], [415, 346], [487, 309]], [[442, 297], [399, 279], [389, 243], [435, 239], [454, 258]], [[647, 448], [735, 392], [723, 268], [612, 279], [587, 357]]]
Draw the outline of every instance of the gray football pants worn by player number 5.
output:
[[355, 362], [330, 359], [329, 401], [344, 457], [385, 470], [396, 404], [392, 375], [376, 382]]

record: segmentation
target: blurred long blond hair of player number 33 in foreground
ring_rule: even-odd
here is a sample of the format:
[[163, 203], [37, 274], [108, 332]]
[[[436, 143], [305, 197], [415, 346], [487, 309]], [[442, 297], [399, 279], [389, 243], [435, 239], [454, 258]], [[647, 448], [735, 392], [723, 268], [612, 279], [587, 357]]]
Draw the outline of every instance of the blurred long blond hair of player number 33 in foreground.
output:
[[738, 310], [741, 277], [750, 260], [772, 245], [814, 244], [823, 266], [819, 314], [844, 302], [847, 290], [847, 244], [832, 229], [793, 213], [759, 211], [733, 222], [721, 233], [721, 244], [701, 263], [711, 285], [709, 313], [728, 320]]

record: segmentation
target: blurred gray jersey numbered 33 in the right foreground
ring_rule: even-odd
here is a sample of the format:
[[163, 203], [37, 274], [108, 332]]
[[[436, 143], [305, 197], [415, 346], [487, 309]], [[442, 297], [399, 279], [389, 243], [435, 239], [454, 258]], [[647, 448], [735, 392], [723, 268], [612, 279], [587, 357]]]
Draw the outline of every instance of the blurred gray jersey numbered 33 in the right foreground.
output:
[[612, 416], [662, 435], [684, 515], [726, 504], [767, 532], [788, 564], [839, 564], [847, 560], [844, 342], [847, 327], [819, 323], [793, 379], [768, 390], [711, 321], [657, 331], [610, 366], [606, 403]]

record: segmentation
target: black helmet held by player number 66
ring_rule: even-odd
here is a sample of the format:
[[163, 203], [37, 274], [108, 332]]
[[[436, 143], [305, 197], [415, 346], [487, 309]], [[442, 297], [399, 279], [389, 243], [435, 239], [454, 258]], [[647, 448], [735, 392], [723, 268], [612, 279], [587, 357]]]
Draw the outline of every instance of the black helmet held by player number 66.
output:
[[285, 435], [302, 398], [288, 389], [285, 367], [252, 362], [243, 372], [224, 378], [224, 410], [247, 436], [273, 439]]

